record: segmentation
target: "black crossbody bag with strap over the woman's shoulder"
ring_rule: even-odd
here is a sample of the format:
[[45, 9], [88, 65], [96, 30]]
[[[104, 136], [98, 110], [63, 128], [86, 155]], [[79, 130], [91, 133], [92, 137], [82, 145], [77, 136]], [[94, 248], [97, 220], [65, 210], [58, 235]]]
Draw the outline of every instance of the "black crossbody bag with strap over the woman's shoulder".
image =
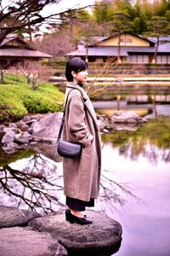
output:
[[[72, 89], [72, 90], [77, 90], [77, 89]], [[68, 102], [68, 97], [69, 97], [70, 93], [71, 93], [71, 90], [68, 93], [68, 96], [65, 101], [65, 109], [66, 109], [66, 104]], [[62, 157], [75, 159], [75, 158], [78, 158], [81, 156], [82, 145], [80, 143], [72, 143], [72, 142], [65, 141], [65, 140], [61, 139], [61, 133], [63, 130], [63, 126], [65, 124], [65, 109], [64, 109], [64, 113], [63, 113], [63, 118], [61, 120], [61, 125], [59, 128], [59, 135], [58, 135], [58, 140], [57, 140], [57, 152]]]

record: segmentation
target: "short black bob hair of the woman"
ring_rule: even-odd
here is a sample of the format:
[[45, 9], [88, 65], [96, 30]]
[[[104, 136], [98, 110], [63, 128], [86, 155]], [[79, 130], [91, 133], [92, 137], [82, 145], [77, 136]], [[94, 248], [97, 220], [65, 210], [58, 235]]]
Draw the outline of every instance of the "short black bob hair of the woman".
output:
[[72, 57], [66, 63], [65, 78], [67, 81], [71, 82], [73, 81], [72, 71], [78, 73], [86, 69], [88, 69], [88, 63], [86, 61], [83, 61], [80, 57]]

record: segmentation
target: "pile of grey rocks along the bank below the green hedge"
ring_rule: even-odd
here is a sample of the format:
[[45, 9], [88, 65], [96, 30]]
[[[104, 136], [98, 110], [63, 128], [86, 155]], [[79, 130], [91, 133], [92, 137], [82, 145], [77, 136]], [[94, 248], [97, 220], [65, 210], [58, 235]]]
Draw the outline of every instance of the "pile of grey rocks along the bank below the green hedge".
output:
[[61, 117], [62, 113], [29, 115], [16, 123], [0, 125], [3, 151], [12, 154], [34, 142], [56, 144]]

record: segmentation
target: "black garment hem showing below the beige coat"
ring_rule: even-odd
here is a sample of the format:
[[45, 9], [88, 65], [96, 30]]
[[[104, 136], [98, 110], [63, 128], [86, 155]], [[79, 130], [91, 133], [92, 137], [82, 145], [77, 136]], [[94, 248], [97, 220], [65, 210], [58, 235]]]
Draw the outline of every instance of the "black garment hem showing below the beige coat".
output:
[[66, 206], [72, 210], [83, 212], [86, 210], [86, 207], [94, 207], [94, 198], [91, 198], [90, 201], [82, 201], [66, 196]]

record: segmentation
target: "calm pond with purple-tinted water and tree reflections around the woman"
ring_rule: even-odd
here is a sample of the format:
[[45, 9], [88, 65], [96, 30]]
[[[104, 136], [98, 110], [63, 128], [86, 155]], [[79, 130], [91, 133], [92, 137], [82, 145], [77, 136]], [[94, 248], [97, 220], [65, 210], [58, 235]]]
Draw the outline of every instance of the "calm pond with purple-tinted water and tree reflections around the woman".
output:
[[[102, 135], [101, 189], [95, 210], [122, 224], [116, 256], [170, 255], [170, 119], [165, 116], [170, 116], [170, 106], [156, 107], [159, 118], [137, 131]], [[48, 151], [48, 145], [43, 148]], [[65, 207], [62, 163], [36, 151], [0, 151], [1, 205], [37, 212]]]

